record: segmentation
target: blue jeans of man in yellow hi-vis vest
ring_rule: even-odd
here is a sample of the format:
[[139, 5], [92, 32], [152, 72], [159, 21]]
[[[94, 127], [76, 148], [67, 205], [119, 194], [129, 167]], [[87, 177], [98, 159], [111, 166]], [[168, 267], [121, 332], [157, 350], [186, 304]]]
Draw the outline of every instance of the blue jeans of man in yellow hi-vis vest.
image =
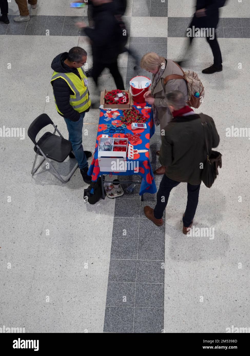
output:
[[64, 117], [63, 119], [65, 120], [67, 125], [68, 140], [71, 142], [74, 155], [78, 162], [78, 166], [80, 169], [83, 169], [88, 167], [87, 158], [82, 147], [82, 126], [85, 112], [81, 112], [80, 115], [81, 117], [78, 121], [72, 121], [70, 119], [67, 119], [66, 117]]

